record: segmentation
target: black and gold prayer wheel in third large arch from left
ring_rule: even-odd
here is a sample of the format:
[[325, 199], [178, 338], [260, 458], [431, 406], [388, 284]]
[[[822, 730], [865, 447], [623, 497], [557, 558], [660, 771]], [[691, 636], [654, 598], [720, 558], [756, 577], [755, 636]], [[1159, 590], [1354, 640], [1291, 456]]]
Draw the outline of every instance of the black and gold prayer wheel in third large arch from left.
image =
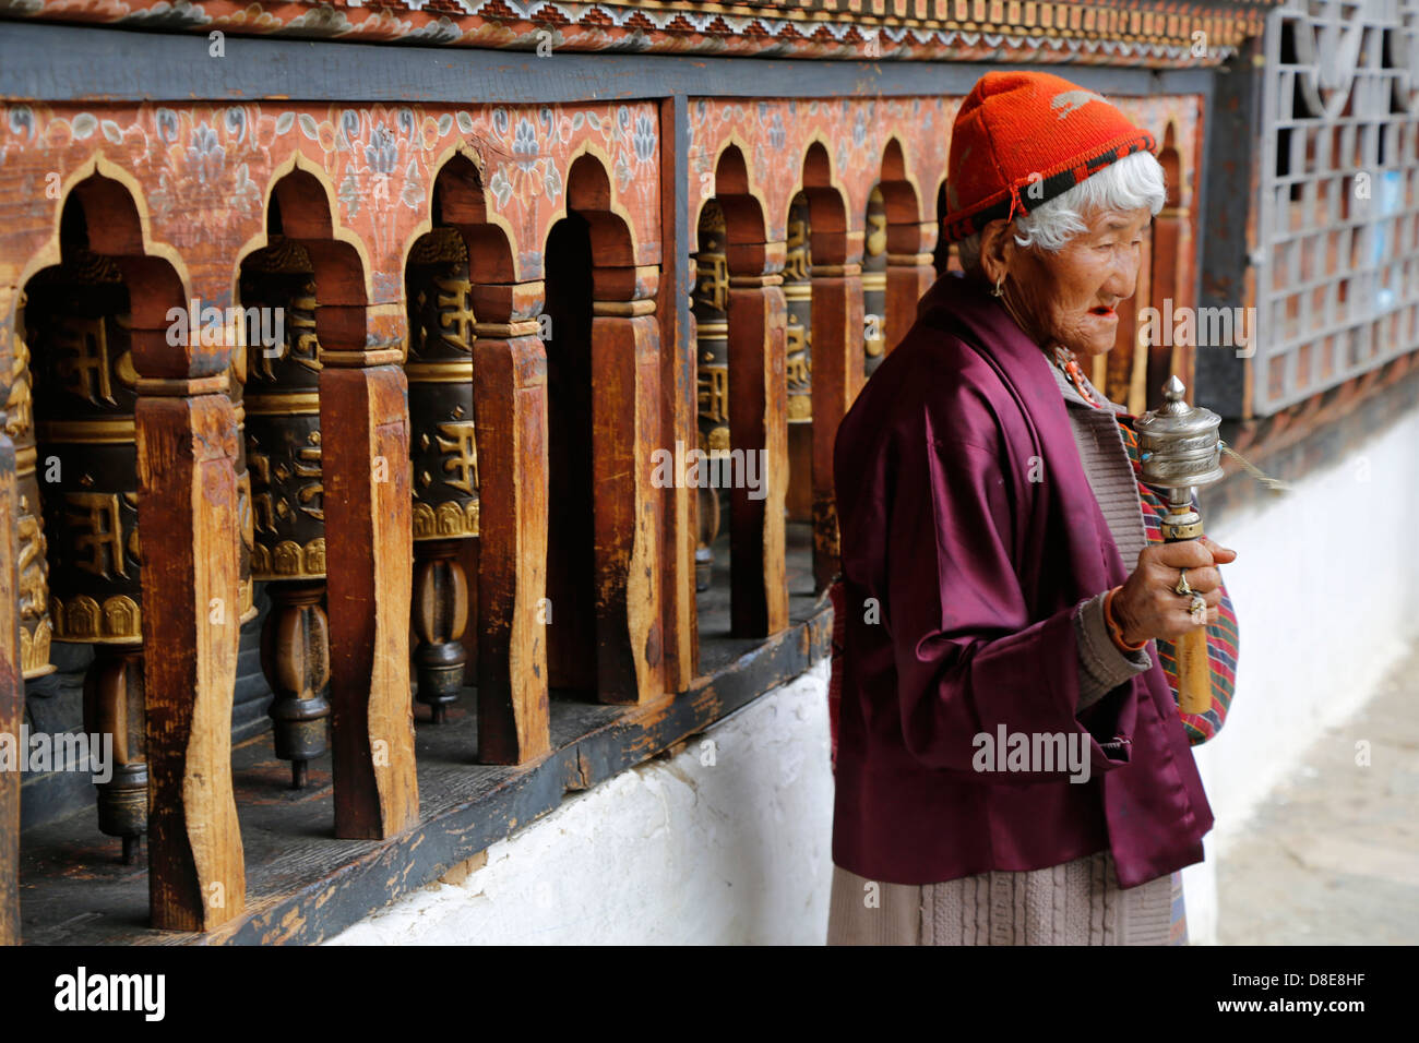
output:
[[409, 255], [410, 454], [414, 475], [413, 626], [417, 698], [437, 724], [463, 688], [468, 576], [478, 535], [478, 444], [473, 413], [473, 282], [454, 228], [434, 228]]

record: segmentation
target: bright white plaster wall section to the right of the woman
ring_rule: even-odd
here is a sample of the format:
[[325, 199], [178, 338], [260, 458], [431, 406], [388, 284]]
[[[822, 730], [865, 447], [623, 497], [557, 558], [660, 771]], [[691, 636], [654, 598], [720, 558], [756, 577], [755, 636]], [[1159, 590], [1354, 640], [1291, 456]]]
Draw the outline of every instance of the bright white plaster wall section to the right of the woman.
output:
[[1195, 751], [1216, 816], [1208, 860], [1183, 870], [1195, 944], [1216, 938], [1216, 860], [1249, 812], [1419, 636], [1419, 413], [1208, 529], [1237, 552], [1225, 575], [1242, 647], [1226, 727]]

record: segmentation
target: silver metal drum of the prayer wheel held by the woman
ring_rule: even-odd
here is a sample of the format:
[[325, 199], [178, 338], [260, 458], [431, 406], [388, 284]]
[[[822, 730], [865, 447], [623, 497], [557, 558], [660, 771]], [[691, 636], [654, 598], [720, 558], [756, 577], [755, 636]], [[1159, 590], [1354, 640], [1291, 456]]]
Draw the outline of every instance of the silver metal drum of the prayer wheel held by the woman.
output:
[[[1164, 406], [1134, 423], [1142, 480], [1164, 490], [1168, 497], [1169, 514], [1164, 519], [1168, 531], [1164, 536], [1169, 539], [1202, 535], [1202, 519], [1191, 508], [1192, 490], [1223, 477], [1219, 437], [1222, 417], [1210, 409], [1189, 406], [1183, 400], [1185, 393], [1182, 380], [1169, 377], [1162, 389]], [[1191, 514], [1196, 521], [1185, 521], [1183, 514]]]

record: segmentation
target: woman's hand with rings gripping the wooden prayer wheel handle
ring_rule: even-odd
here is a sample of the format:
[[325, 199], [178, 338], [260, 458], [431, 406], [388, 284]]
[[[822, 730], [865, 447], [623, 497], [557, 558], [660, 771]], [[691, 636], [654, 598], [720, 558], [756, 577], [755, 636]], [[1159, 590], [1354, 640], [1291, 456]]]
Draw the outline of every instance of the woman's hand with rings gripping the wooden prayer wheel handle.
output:
[[1178, 570], [1188, 570], [1188, 586], [1208, 602], [1208, 623], [1218, 622], [1222, 603], [1222, 573], [1218, 565], [1236, 561], [1237, 552], [1206, 536], [1181, 543], [1152, 543], [1138, 555], [1138, 568], [1114, 595], [1114, 619], [1130, 644], [1151, 639], [1175, 640], [1196, 630], [1192, 599], [1179, 595]]

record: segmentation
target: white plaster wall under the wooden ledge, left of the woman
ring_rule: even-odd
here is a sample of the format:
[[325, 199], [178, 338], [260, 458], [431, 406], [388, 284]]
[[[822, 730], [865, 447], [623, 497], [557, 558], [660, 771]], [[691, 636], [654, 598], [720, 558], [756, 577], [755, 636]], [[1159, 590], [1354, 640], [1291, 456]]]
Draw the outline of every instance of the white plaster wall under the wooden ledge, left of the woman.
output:
[[680, 755], [568, 798], [463, 883], [421, 888], [328, 944], [822, 945], [827, 758], [824, 658]]

